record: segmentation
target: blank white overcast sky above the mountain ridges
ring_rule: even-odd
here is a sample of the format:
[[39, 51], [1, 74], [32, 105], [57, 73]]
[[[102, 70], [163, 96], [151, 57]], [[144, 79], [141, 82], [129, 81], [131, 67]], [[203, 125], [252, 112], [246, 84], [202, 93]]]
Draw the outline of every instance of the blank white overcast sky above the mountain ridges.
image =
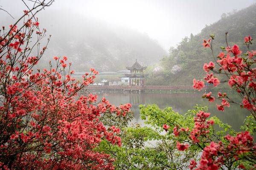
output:
[[[133, 28], [168, 50], [183, 37], [216, 22], [221, 14], [253, 3], [256, 0], [55, 0], [50, 8]], [[0, 0], [0, 6], [13, 15], [25, 9], [21, 0]], [[0, 11], [0, 17], [9, 16]]]

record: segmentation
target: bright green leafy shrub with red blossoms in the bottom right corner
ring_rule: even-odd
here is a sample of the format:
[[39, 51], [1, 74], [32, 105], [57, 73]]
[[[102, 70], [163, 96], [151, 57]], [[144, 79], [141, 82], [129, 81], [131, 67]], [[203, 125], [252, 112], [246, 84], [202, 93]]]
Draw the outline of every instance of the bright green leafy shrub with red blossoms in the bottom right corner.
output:
[[[205, 108], [196, 107], [184, 116], [172, 108], [160, 110], [156, 105], [141, 105], [140, 109], [142, 118], [147, 118], [146, 124], [167, 131], [165, 135], [159, 132], [159, 142], [151, 148], [166, 152], [163, 167], [190, 170], [233, 170], [238, 167], [253, 170], [256, 167], [253, 136], [248, 131], [236, 133], [217, 117], [209, 117]], [[214, 125], [220, 130], [216, 131]]]

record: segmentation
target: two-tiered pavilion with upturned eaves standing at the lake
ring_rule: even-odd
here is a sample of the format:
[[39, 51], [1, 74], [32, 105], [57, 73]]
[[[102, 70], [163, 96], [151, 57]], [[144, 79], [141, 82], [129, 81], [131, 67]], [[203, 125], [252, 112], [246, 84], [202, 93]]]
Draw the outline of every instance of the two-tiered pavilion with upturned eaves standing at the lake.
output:
[[143, 70], [147, 67], [141, 66], [137, 59], [131, 67], [126, 67], [130, 73], [125, 74], [126, 77], [129, 77], [129, 85], [144, 85], [145, 75]]

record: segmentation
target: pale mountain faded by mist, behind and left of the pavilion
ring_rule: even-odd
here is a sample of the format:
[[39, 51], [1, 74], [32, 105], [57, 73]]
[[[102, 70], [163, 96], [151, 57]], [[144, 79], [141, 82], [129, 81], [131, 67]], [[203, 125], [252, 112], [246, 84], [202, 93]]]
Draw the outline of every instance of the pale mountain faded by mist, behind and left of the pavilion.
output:
[[114, 27], [64, 11], [46, 10], [38, 15], [41, 28], [51, 34], [40, 67], [53, 56], [67, 56], [75, 71], [124, 70], [135, 59], [142, 65], [159, 62], [166, 51], [147, 34], [130, 28]]

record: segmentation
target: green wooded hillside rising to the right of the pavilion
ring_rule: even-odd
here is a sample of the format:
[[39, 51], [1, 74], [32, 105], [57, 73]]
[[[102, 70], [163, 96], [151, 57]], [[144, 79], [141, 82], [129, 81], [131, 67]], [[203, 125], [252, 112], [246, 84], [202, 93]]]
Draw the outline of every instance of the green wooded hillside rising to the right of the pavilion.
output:
[[[191, 85], [193, 78], [203, 78], [203, 65], [212, 59], [209, 48], [203, 48], [203, 39], [215, 35], [214, 52], [218, 54], [221, 46], [226, 46], [225, 32], [228, 31], [230, 46], [237, 44], [242, 51], [247, 51], [243, 45], [244, 37], [254, 38], [251, 49], [256, 50], [256, 4], [222, 14], [218, 22], [205, 26], [197, 34], [184, 37], [177, 48], [170, 48], [169, 56], [164, 57], [157, 66], [148, 67], [148, 85]], [[157, 68], [156, 68], [157, 67]]]

